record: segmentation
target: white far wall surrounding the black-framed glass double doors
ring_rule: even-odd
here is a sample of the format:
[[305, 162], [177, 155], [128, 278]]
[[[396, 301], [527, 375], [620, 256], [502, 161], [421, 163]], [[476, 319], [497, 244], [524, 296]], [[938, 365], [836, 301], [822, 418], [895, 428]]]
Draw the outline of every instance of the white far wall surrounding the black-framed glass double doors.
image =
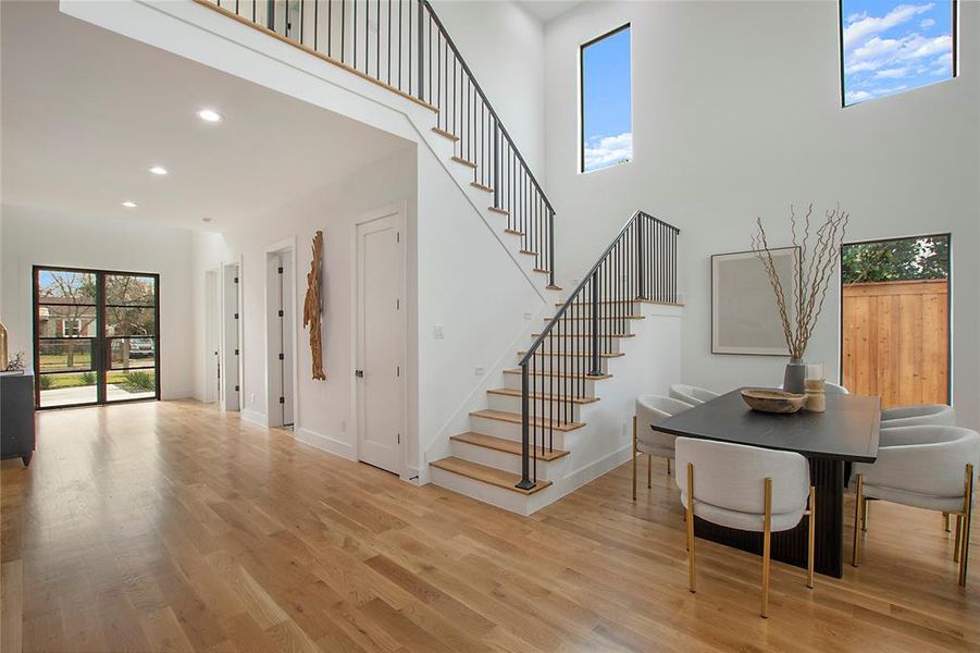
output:
[[32, 267], [65, 266], [160, 274], [160, 391], [164, 399], [190, 396], [193, 375], [191, 232], [109, 218], [59, 215], [3, 205], [0, 320], [10, 350], [33, 366]]

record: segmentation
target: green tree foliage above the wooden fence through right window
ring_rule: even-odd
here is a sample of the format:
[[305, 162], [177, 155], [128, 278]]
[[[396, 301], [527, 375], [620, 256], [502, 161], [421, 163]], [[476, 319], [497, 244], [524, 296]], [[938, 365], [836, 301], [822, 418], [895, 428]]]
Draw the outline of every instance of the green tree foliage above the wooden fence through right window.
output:
[[841, 274], [844, 283], [946, 279], [950, 241], [946, 237], [900, 238], [845, 245]]

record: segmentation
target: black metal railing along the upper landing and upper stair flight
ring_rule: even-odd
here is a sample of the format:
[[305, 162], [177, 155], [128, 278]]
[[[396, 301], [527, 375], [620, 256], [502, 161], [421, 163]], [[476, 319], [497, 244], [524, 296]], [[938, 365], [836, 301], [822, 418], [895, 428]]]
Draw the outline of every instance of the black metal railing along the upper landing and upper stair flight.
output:
[[437, 110], [487, 208], [555, 285], [555, 209], [429, 0], [196, 0]]

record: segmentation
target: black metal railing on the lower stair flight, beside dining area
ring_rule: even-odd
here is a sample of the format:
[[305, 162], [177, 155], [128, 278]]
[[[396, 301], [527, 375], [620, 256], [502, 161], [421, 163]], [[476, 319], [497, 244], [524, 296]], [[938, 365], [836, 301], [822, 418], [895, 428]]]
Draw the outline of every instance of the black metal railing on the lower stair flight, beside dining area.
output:
[[585, 273], [521, 358], [521, 481], [537, 484], [537, 460], [554, 452], [555, 431], [573, 426], [575, 406], [593, 399], [640, 301], [678, 303], [680, 230], [636, 211]]

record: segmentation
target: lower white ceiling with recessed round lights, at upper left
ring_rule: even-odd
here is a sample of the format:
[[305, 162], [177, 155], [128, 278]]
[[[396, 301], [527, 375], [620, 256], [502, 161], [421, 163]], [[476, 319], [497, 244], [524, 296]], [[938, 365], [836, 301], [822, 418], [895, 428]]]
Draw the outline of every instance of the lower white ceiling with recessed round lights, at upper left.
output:
[[4, 204], [220, 230], [408, 146], [51, 2], [0, 7]]

